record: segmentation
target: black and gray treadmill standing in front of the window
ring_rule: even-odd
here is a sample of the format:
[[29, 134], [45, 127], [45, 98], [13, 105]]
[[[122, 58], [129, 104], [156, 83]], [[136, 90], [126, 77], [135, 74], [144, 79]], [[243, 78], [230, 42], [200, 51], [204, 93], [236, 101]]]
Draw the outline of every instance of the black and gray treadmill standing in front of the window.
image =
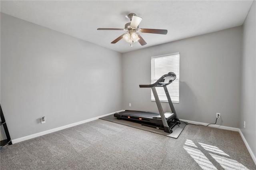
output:
[[[152, 89], [159, 113], [126, 110], [120, 113], [115, 113], [114, 117], [116, 117], [117, 119], [124, 119], [135, 123], [140, 123], [144, 126], [161, 129], [167, 133], [172, 133], [172, 128], [176, 125], [179, 125], [180, 120], [178, 119], [166, 86], [172, 83], [172, 81], [174, 81], [175, 79], [176, 74], [173, 72], [169, 72], [160, 77], [160, 79], [158, 79], [155, 83], [151, 85], [140, 85], [141, 88]], [[158, 98], [158, 94], [156, 92], [156, 87], [164, 87], [164, 91], [166, 93], [166, 97], [168, 99], [168, 103], [170, 105], [172, 113], [164, 113], [162, 105]]]

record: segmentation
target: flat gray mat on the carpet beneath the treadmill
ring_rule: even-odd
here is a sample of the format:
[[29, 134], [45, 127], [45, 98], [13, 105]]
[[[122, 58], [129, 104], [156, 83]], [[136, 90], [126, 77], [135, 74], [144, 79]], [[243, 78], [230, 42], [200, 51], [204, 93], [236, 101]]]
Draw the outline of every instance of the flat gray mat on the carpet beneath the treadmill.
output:
[[164, 130], [160, 130], [160, 129], [156, 129], [156, 128], [152, 128], [152, 127], [147, 127], [147, 126], [142, 126], [139, 123], [134, 123], [134, 122], [131, 122], [131, 121], [126, 121], [126, 120], [121, 120], [121, 119], [118, 120], [118, 119], [116, 119], [116, 117], [114, 117], [114, 114], [113, 115], [108, 115], [108, 116], [105, 116], [105, 117], [101, 117], [100, 119], [105, 120], [105, 121], [114, 122], [114, 123], [119, 123], [121, 125], [126, 125], [126, 126], [129, 126], [129, 127], [139, 128], [139, 129], [146, 130], [146, 131], [153, 132], [153, 133], [157, 133], [157, 134], [162, 134], [164, 136], [168, 136], [168, 137], [172, 137], [172, 138], [178, 138], [180, 133], [184, 129], [184, 127], [186, 127], [186, 123], [180, 122], [180, 125], [178, 125], [178, 126], [176, 125], [175, 127], [172, 128], [173, 132], [170, 134], [170, 133], [164, 132]]

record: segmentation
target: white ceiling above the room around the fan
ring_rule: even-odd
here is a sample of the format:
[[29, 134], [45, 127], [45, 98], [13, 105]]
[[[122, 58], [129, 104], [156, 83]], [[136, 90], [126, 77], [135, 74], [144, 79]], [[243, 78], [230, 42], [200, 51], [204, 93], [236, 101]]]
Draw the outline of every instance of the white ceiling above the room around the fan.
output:
[[[3, 1], [1, 12], [121, 53], [192, 36], [241, 26], [250, 10], [246, 1]], [[97, 28], [124, 28], [135, 13], [143, 18], [140, 28], [166, 29], [167, 35], [140, 33], [147, 45], [120, 40], [124, 31]]]

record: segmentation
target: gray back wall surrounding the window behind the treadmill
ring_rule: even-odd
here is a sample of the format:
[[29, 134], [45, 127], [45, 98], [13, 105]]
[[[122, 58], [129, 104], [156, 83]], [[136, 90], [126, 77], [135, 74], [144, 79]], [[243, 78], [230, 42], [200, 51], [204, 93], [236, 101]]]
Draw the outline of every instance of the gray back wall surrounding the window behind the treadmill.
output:
[[[242, 27], [123, 54], [123, 109], [158, 111], [150, 100], [151, 57], [180, 52], [180, 119], [240, 127]], [[170, 70], [171, 71], [171, 70]], [[132, 107], [129, 107], [129, 103]], [[168, 103], [162, 103], [170, 111]]]

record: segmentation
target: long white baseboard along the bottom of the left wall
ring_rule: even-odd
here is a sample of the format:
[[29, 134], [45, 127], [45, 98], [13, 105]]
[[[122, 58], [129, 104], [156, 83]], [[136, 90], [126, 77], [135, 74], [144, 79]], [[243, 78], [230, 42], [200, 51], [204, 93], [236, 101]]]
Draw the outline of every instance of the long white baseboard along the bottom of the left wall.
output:
[[72, 123], [72, 124], [69, 124], [69, 125], [62, 126], [62, 127], [53, 128], [53, 129], [46, 130], [46, 131], [43, 131], [43, 132], [39, 132], [39, 133], [31, 134], [31, 135], [28, 135], [28, 136], [24, 136], [24, 137], [21, 137], [21, 138], [13, 139], [13, 140], [12, 140], [12, 144], [18, 143], [18, 142], [22, 142], [22, 141], [24, 141], [24, 140], [36, 138], [36, 137], [42, 136], [42, 135], [44, 135], [44, 134], [49, 134], [49, 133], [52, 133], [52, 132], [56, 132], [56, 131], [59, 131], [59, 130], [65, 129], [65, 128], [74, 127], [74, 126], [76, 126], [76, 125], [80, 125], [80, 124], [83, 124], [83, 123], [87, 123], [87, 122], [90, 122], [90, 121], [94, 121], [94, 120], [99, 119], [99, 118], [101, 118], [101, 117], [105, 117], [105, 116], [112, 115], [112, 114], [114, 114], [114, 113], [122, 112], [122, 111], [124, 111], [124, 110], [116, 111], [116, 112], [113, 112], [113, 113], [108, 113], [108, 114], [106, 114], [106, 115], [94, 117], [94, 118], [91, 118], [91, 119], [86, 119], [86, 120], [84, 120], [84, 121]]

